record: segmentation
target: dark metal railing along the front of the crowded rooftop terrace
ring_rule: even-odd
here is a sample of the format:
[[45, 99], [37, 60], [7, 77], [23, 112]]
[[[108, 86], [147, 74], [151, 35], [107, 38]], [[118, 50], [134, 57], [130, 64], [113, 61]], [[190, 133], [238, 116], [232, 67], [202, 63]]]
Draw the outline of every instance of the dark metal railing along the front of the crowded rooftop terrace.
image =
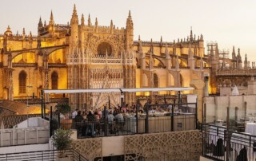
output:
[[[101, 120], [82, 120], [82, 122], [64, 123], [60, 116], [52, 116], [50, 121], [50, 133], [58, 128], [76, 129], [78, 139], [85, 137], [102, 137], [112, 135], [133, 135], [143, 133], [178, 132], [194, 130], [198, 128], [197, 105], [194, 104], [158, 104], [161, 108], [173, 107], [170, 112], [152, 112], [149, 109], [154, 105], [148, 105], [147, 112], [143, 114], [126, 114], [124, 120], [109, 122], [107, 116]], [[191, 107], [193, 106], [194, 107]], [[104, 112], [103, 112], [104, 113]], [[137, 117], [138, 116], [138, 117]], [[106, 118], [106, 119], [103, 119]]]

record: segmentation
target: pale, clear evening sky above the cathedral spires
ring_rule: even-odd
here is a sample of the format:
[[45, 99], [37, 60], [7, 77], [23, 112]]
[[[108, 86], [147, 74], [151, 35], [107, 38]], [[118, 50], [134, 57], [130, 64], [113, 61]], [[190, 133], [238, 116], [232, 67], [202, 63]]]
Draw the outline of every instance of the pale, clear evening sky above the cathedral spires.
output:
[[[256, 61], [256, 1], [254, 0], [1, 0], [0, 33], [10, 26], [13, 33], [22, 28], [37, 35], [38, 20], [70, 22], [74, 4], [78, 18], [88, 14], [92, 23], [98, 18], [99, 26], [126, 27], [129, 10], [134, 21], [134, 40], [177, 41], [193, 33], [204, 36], [205, 47], [210, 41], [218, 42], [219, 49], [233, 45], [240, 48], [242, 61], [247, 53], [248, 61]], [[86, 21], [87, 22], [87, 21]], [[197, 36], [198, 37], [198, 36]]]

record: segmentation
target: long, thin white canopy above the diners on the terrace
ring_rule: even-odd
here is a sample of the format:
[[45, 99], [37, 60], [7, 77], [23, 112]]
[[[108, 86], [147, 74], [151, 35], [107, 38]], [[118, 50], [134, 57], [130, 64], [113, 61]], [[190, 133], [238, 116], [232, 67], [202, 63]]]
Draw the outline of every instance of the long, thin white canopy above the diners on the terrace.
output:
[[91, 89], [43, 89], [44, 93], [82, 93], [82, 92], [158, 92], [158, 91], [188, 91], [192, 87], [181, 88], [91, 88]]

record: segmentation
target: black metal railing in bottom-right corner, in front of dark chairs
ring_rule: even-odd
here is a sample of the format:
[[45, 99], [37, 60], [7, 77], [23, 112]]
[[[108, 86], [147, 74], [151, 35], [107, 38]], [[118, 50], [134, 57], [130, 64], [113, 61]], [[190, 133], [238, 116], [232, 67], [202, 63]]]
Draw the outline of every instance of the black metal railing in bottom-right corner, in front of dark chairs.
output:
[[214, 124], [202, 125], [203, 156], [214, 160], [255, 160], [256, 135], [232, 132]]

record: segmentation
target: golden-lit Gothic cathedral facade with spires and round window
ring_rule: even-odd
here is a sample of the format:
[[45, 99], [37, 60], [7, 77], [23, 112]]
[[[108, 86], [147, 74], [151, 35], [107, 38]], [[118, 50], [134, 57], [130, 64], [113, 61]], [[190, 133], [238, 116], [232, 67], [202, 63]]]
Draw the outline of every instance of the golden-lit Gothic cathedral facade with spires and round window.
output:
[[[13, 33], [8, 26], [0, 35], [0, 99], [40, 98], [42, 89], [188, 87], [194, 79], [210, 73], [210, 92], [216, 92], [215, 58], [205, 54], [202, 34], [177, 41], [134, 41], [134, 23], [129, 12], [126, 27], [94, 24], [90, 15], [78, 18], [74, 6], [70, 23], [38, 22], [38, 35]], [[215, 64], [214, 64], [215, 63]], [[216, 65], [215, 65], [216, 66]], [[213, 88], [211, 88], [213, 87]], [[213, 89], [213, 90], [212, 90]], [[212, 91], [211, 91], [212, 90]], [[184, 92], [185, 93], [185, 92]], [[186, 92], [190, 93], [190, 92]], [[151, 93], [152, 94], [152, 93]], [[170, 94], [158, 92], [154, 94]], [[138, 92], [137, 96], [148, 96]], [[66, 95], [67, 96], [67, 95]], [[62, 97], [57, 94], [46, 99]], [[70, 94], [73, 108], [102, 108], [121, 104], [120, 93]], [[132, 104], [136, 93], [124, 93]]]

